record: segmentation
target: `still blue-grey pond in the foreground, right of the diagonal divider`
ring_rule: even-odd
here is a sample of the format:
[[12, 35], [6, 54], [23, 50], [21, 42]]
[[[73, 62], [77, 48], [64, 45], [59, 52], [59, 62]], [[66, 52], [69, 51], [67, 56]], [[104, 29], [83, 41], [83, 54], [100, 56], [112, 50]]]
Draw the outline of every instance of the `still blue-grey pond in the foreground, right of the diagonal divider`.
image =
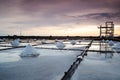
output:
[[120, 80], [120, 55], [114, 53], [109, 58], [105, 54], [89, 52], [72, 80]]

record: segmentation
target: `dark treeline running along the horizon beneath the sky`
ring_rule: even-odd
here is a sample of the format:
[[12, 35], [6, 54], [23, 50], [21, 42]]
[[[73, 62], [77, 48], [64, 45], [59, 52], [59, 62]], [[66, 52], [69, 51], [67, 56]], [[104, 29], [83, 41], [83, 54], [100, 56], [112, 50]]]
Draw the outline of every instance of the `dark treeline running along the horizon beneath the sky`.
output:
[[[99, 36], [0, 36], [0, 38], [8, 38], [8, 39], [94, 39], [94, 40], [100, 40]], [[107, 39], [107, 38], [102, 38]], [[110, 38], [111, 40], [117, 40], [120, 41], [120, 36]]]

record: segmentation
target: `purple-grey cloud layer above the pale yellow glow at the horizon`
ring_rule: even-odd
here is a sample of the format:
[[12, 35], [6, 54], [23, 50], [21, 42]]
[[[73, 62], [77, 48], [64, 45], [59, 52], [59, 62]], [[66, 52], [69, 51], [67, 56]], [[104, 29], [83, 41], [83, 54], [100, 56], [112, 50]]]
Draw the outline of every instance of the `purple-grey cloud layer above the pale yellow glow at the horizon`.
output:
[[107, 20], [120, 25], [119, 5], [120, 0], [0, 0], [0, 29], [64, 28], [59, 25], [98, 25]]

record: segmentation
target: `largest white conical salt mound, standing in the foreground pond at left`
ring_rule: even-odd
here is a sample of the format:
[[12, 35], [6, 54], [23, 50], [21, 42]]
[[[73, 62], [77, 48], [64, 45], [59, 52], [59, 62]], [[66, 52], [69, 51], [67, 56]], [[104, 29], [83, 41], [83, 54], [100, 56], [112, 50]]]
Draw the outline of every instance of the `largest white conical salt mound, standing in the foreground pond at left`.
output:
[[39, 53], [35, 50], [35, 48], [28, 44], [25, 49], [20, 54], [21, 57], [36, 57]]

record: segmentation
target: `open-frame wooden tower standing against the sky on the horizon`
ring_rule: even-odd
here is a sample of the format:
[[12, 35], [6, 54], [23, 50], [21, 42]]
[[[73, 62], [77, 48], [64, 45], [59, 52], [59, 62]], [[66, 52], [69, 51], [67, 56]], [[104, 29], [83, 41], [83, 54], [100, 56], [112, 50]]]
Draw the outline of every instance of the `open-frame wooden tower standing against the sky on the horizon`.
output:
[[105, 26], [98, 27], [100, 29], [100, 38], [113, 38], [114, 37], [114, 24], [112, 21], [105, 23]]

